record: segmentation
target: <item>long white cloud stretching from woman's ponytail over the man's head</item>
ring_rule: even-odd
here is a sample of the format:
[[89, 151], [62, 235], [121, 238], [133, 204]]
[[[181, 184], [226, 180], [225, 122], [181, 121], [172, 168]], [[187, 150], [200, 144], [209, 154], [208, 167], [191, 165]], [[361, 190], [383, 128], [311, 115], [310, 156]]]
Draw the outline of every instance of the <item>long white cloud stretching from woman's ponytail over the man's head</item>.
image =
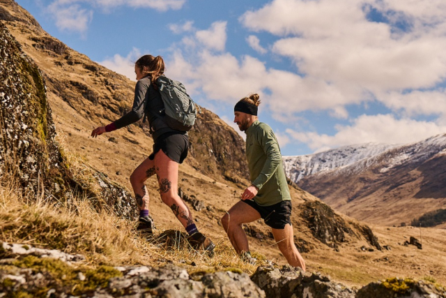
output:
[[[168, 61], [167, 69], [209, 100], [235, 103], [248, 94], [258, 93], [265, 103], [262, 110], [269, 110], [283, 122], [291, 121], [293, 114], [305, 110], [328, 109], [335, 117], [345, 119], [348, 113], [344, 105], [367, 99], [358, 88], [340, 88], [312, 77], [268, 69], [264, 62], [249, 55], [239, 60], [228, 52], [215, 54], [194, 49], [183, 55], [177, 51]], [[345, 90], [353, 95], [346, 96]]]

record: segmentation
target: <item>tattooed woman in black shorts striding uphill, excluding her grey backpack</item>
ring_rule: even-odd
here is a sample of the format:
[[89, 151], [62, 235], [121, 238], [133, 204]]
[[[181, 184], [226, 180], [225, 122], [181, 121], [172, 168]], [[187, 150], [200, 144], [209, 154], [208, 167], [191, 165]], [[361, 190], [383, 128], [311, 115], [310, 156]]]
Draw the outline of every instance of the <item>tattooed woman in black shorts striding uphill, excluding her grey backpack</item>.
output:
[[162, 57], [144, 55], [134, 64], [137, 84], [134, 89], [132, 110], [107, 126], [100, 126], [91, 132], [92, 137], [109, 133], [139, 121], [148, 119], [153, 137], [153, 152], [130, 176], [134, 197], [139, 206], [139, 223], [137, 230], [151, 235], [153, 218], [148, 211], [148, 191], [144, 182], [153, 174], [157, 175], [162, 202], [174, 212], [178, 221], [189, 234], [188, 241], [192, 248], [212, 253], [215, 244], [198, 231], [190, 209], [178, 195], [178, 166], [187, 156], [189, 137], [187, 132], [170, 128], [160, 115], [164, 103], [158, 91], [157, 78], [164, 74]]

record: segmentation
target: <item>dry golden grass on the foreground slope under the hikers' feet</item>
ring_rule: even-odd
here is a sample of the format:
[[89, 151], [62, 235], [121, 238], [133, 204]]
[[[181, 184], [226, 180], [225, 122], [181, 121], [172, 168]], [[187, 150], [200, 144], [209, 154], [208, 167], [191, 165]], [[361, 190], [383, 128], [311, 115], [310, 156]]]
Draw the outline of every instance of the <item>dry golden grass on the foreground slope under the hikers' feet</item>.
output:
[[[59, 143], [63, 144], [60, 138]], [[84, 158], [66, 147], [62, 151], [72, 179], [90, 191], [98, 189]], [[16, 193], [14, 179], [3, 176], [0, 180], [1, 241], [80, 253], [91, 265], [162, 266], [173, 262], [191, 272], [229, 269], [249, 274], [256, 269], [240, 260], [226, 244], [226, 237], [213, 239], [216, 248], [210, 258], [207, 253], [192, 250], [185, 233], [177, 232], [181, 237], [174, 239], [178, 241], [174, 245], [167, 245], [166, 239], [160, 238], [168, 232], [163, 228], [155, 230], [152, 239], [144, 239], [137, 234], [136, 223], [118, 218], [107, 209], [98, 211], [90, 198], [79, 198], [76, 192], [66, 202], [43, 200]], [[262, 262], [259, 255], [259, 263]]]

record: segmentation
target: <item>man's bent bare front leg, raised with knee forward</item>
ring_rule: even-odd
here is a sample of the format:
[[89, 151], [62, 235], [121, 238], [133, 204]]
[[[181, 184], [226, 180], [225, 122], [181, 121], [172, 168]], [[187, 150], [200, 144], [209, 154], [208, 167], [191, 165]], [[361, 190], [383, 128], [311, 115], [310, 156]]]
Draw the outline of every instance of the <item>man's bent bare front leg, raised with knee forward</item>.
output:
[[238, 202], [233, 205], [229, 211], [222, 217], [222, 225], [228, 234], [231, 244], [238, 254], [243, 251], [249, 251], [248, 239], [242, 228], [243, 223], [251, 223], [260, 218], [260, 214], [256, 209], [252, 208], [245, 202]]

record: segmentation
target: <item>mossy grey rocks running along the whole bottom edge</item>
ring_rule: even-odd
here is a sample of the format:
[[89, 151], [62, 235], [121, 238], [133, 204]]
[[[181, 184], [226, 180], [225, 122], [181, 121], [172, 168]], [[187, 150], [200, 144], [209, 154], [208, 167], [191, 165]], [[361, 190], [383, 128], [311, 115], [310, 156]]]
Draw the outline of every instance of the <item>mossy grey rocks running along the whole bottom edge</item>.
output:
[[[360, 290], [330, 276], [284, 266], [258, 267], [249, 277], [239, 269], [195, 271], [164, 267], [86, 267], [82, 255], [0, 245], [0, 297], [275, 297], [275, 298], [445, 298], [431, 281], [389, 278]], [[15, 295], [15, 296], [14, 296]]]

